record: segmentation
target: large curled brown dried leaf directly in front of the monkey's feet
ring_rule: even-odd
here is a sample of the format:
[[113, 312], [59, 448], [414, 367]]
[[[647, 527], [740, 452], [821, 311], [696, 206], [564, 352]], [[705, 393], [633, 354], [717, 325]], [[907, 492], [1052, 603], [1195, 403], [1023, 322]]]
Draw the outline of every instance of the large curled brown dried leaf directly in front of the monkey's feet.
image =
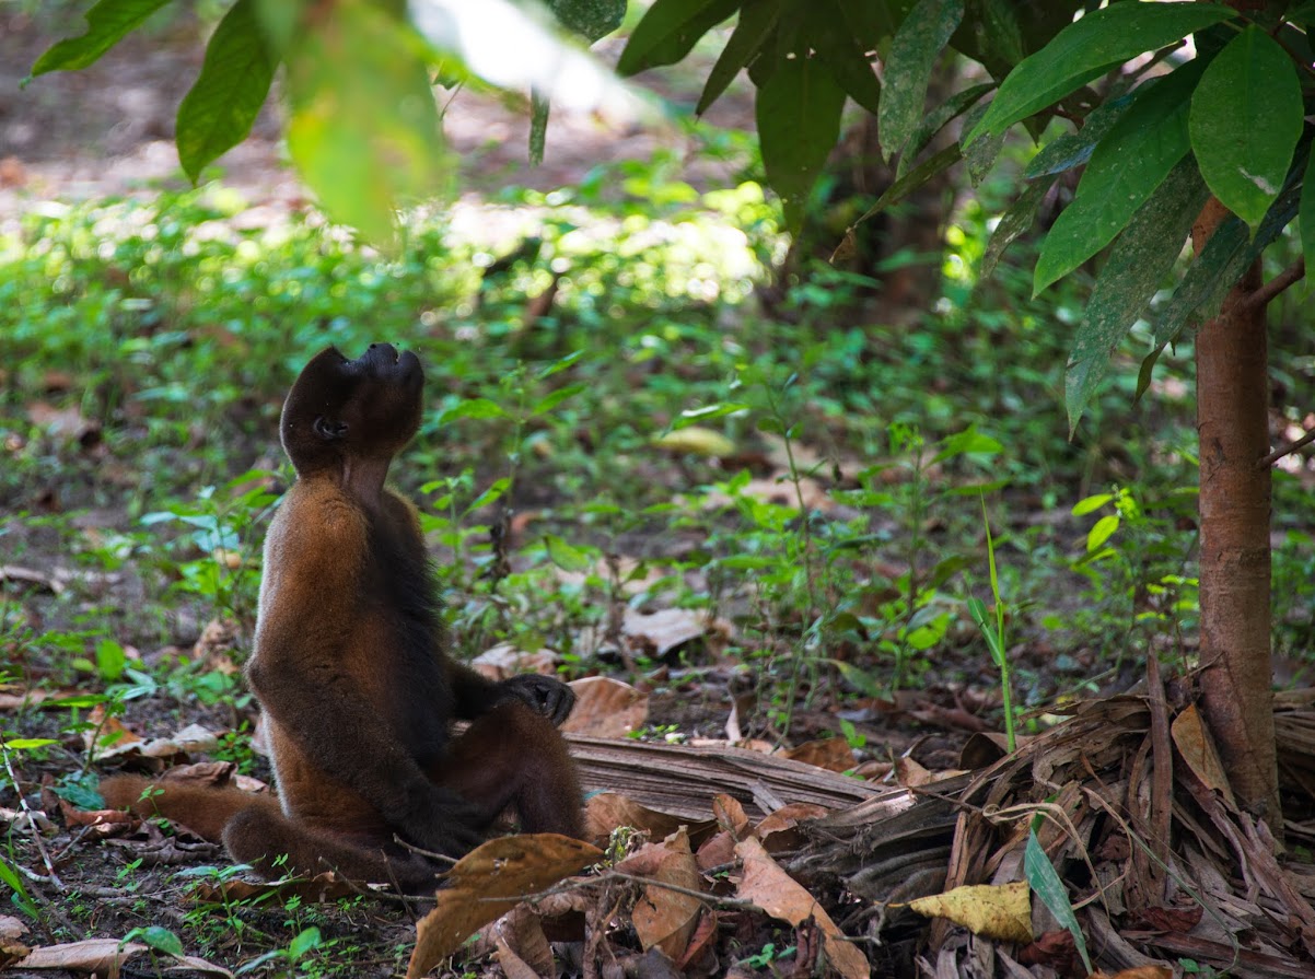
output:
[[419, 979], [480, 926], [602, 857], [556, 833], [504, 836], [466, 854], [446, 875], [437, 907], [416, 925], [408, 979]]

